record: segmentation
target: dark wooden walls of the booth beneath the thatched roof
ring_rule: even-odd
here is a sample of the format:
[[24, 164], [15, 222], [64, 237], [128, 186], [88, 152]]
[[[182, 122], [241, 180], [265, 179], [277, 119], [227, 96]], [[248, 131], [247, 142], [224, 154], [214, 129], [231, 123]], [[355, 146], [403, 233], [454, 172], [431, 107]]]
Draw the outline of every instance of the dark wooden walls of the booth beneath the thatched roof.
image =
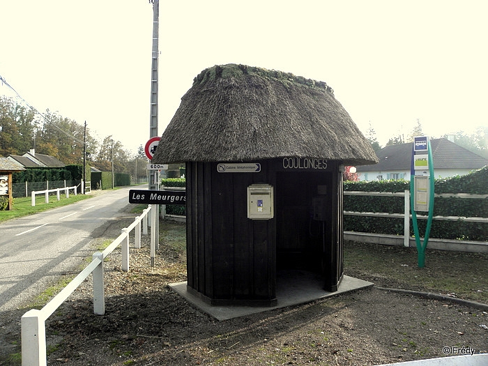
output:
[[[213, 305], [274, 305], [283, 270], [342, 280], [342, 171], [276, 158], [226, 166], [186, 162], [188, 290]], [[298, 162], [295, 167], [292, 162]]]

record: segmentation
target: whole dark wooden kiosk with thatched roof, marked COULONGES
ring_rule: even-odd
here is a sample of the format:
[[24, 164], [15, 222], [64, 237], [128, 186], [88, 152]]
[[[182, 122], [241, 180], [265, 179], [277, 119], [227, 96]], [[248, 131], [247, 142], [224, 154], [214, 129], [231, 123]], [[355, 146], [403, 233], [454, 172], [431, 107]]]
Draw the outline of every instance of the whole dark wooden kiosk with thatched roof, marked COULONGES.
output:
[[195, 78], [152, 162], [186, 164], [188, 291], [271, 306], [280, 270], [337, 290], [343, 167], [377, 160], [326, 83], [231, 64]]

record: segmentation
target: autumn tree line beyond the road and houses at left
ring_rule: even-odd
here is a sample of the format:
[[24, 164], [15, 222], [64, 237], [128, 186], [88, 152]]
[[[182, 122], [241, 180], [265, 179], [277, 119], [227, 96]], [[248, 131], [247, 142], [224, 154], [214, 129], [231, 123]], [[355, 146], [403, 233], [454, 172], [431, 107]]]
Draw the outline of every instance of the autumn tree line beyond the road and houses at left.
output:
[[144, 148], [139, 146], [135, 156], [121, 142], [109, 135], [98, 141], [84, 124], [50, 112], [40, 116], [20, 105], [13, 98], [0, 96], [0, 156], [23, 155], [32, 148], [36, 153], [50, 155], [66, 165], [82, 165], [86, 141], [86, 164], [101, 171], [145, 176]]

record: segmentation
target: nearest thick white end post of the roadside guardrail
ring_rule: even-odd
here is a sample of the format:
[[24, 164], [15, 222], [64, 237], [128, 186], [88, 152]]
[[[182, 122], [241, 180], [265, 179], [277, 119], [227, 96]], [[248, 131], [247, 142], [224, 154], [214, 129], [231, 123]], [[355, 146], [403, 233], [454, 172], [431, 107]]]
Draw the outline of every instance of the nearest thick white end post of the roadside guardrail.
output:
[[22, 315], [22, 366], [46, 366], [46, 326], [40, 310]]

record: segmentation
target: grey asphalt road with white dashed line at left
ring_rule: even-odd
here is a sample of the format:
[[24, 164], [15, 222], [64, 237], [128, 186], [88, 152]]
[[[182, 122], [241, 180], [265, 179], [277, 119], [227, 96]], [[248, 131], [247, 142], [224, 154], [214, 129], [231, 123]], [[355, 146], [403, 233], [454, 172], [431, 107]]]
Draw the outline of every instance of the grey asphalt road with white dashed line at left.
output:
[[15, 310], [61, 275], [79, 273], [100, 228], [129, 204], [129, 189], [0, 224], [0, 311]]

